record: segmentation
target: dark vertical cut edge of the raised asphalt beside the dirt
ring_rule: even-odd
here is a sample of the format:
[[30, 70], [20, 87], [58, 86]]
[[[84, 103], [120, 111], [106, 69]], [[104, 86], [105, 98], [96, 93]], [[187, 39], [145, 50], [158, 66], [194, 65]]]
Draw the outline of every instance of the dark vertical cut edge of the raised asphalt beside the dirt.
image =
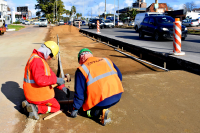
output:
[[170, 66], [172, 69], [182, 69], [182, 70], [186, 70], [186, 71], [189, 71], [189, 72], [192, 72], [195, 74], [200, 74], [200, 69], [199, 69], [200, 65], [199, 64], [176, 58], [176, 57], [170, 55], [169, 53], [152, 51], [152, 50], [145, 49], [145, 48], [133, 45], [133, 44], [129, 44], [127, 42], [122, 42], [122, 41], [119, 41], [119, 40], [116, 40], [113, 38], [109, 38], [107, 36], [103, 36], [98, 33], [92, 33], [92, 32], [89, 32], [89, 31], [86, 31], [83, 29], [80, 29], [79, 32], [87, 34], [91, 37], [94, 36], [94, 38], [100, 39], [101, 41], [109, 42], [109, 44], [111, 44], [113, 46], [123, 47], [123, 49], [125, 49], [127, 51], [131, 51], [133, 54], [136, 54], [136, 55], [143, 54], [146, 57], [148, 56], [149, 59], [150, 59], [150, 57], [151, 58], [153, 57], [154, 59], [152, 59], [152, 60], [153, 61], [158, 60], [157, 63], [159, 65], [163, 65], [164, 63], [167, 62], [168, 66]]

